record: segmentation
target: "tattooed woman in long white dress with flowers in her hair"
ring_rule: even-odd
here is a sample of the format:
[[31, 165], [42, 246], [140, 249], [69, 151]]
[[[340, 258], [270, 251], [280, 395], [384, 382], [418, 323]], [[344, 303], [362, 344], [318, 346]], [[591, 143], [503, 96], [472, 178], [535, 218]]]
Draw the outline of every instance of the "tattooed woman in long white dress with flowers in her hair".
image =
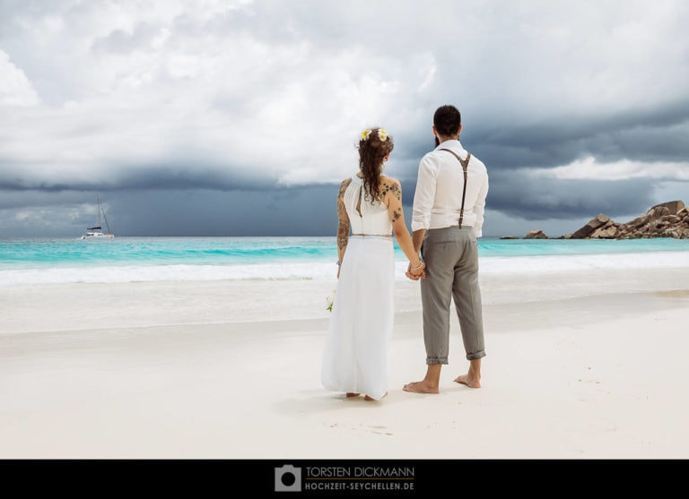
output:
[[381, 128], [359, 137], [359, 172], [337, 194], [337, 288], [328, 323], [321, 378], [330, 391], [380, 400], [388, 393], [388, 344], [394, 319], [392, 235], [414, 277], [424, 263], [414, 252], [402, 210], [402, 187], [382, 175], [394, 147]]

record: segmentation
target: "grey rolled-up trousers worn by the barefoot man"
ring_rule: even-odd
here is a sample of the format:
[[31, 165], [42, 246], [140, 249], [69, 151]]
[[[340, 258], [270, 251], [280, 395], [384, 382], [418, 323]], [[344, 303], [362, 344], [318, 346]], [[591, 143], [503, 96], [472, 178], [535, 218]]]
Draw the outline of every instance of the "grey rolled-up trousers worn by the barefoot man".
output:
[[478, 245], [470, 227], [432, 228], [421, 246], [426, 278], [421, 280], [426, 364], [448, 364], [449, 305], [459, 319], [467, 360], [485, 357]]

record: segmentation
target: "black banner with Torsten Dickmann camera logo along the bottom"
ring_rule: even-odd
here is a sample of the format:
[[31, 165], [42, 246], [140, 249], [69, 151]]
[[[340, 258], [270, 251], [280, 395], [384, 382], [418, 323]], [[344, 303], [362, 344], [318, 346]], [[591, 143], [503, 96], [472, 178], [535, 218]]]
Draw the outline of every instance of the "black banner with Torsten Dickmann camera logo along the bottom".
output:
[[412, 497], [487, 495], [492, 489], [514, 495], [625, 489], [657, 494], [683, 478], [685, 469], [685, 460], [4, 460], [0, 480], [4, 488], [19, 484], [26, 494], [41, 488], [90, 497]]

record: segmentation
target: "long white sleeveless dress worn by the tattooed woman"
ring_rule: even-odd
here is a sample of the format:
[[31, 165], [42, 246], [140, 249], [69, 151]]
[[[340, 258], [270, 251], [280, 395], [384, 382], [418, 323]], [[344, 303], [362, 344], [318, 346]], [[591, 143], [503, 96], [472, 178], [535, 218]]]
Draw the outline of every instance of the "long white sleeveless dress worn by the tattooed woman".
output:
[[[327, 390], [379, 400], [388, 391], [388, 344], [394, 318], [395, 255], [388, 207], [365, 199], [353, 176], [344, 201], [352, 236], [337, 280], [323, 354]], [[360, 211], [357, 203], [361, 200]]]

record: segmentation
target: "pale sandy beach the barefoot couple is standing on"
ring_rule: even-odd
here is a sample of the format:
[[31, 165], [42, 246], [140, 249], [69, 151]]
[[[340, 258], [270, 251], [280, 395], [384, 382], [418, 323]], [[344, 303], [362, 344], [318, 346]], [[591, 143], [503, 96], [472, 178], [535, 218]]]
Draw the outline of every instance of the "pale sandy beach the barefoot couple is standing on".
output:
[[454, 319], [438, 395], [402, 391], [425, 366], [418, 285], [399, 281], [374, 402], [320, 385], [332, 286], [0, 290], [0, 458], [689, 457], [687, 269], [486, 276], [483, 387], [452, 383], [467, 369]]

